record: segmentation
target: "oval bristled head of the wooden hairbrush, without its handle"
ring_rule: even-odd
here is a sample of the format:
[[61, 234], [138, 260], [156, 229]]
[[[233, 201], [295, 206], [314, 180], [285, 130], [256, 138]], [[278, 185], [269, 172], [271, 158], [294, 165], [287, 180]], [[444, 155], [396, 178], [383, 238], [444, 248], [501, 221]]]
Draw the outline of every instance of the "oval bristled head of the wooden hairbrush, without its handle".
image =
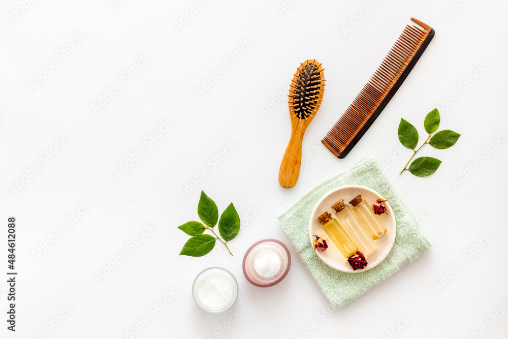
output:
[[291, 116], [307, 119], [313, 116], [321, 104], [325, 79], [323, 69], [316, 60], [308, 60], [300, 64], [291, 80], [289, 93], [289, 109]]

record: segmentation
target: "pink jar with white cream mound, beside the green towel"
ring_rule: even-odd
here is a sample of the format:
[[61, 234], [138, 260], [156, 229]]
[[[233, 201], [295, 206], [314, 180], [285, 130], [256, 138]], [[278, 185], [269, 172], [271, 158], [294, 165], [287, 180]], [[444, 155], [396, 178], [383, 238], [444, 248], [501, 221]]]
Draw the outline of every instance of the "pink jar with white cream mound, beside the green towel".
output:
[[291, 255], [279, 240], [255, 242], [243, 257], [243, 274], [249, 283], [258, 287], [278, 284], [288, 274]]

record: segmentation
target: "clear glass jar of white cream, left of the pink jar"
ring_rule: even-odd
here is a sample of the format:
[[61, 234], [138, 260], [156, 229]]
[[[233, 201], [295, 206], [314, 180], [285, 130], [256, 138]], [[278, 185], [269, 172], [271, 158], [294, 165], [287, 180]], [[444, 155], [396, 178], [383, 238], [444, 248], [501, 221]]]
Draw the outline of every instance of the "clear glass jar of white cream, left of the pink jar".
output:
[[202, 270], [192, 287], [194, 300], [208, 312], [222, 312], [231, 306], [238, 295], [238, 283], [225, 268]]

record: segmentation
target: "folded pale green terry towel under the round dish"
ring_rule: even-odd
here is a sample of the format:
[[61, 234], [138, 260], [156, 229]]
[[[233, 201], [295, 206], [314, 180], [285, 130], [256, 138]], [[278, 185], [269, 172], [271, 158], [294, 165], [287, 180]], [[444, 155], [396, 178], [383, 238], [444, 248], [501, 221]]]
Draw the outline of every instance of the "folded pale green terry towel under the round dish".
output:
[[[397, 224], [395, 243], [390, 254], [376, 267], [360, 273], [345, 273], [329, 267], [314, 253], [309, 240], [310, 213], [317, 201], [327, 192], [347, 184], [366, 186], [382, 195], [390, 203]], [[336, 309], [384, 281], [431, 246], [415, 215], [373, 157], [366, 157], [350, 169], [319, 184], [277, 218], [317, 284]]]

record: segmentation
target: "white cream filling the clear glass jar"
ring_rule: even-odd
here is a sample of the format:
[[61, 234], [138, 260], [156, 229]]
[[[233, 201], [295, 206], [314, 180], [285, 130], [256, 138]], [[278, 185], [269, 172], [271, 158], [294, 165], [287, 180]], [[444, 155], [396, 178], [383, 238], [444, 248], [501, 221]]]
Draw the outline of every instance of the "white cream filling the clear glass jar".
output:
[[196, 283], [198, 303], [206, 308], [218, 309], [236, 298], [236, 285], [230, 274], [221, 269], [210, 269]]

